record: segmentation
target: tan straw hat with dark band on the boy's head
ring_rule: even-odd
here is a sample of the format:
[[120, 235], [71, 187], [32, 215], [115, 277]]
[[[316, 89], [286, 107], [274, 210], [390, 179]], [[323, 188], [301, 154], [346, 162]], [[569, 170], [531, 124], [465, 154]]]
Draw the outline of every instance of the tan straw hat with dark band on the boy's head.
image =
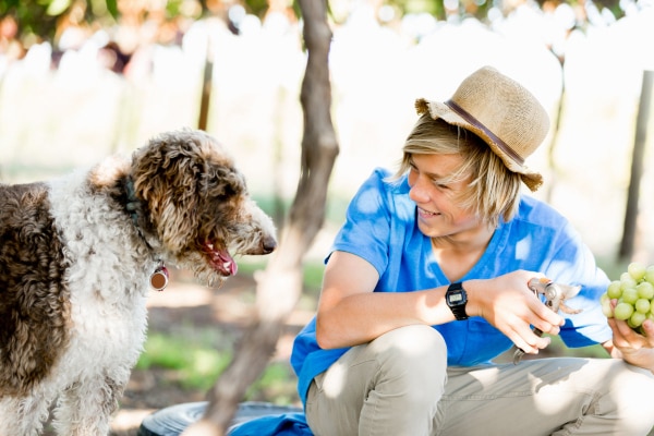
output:
[[435, 120], [469, 130], [518, 172], [530, 190], [536, 191], [543, 177], [524, 160], [535, 152], [549, 131], [549, 118], [536, 98], [518, 82], [491, 66], [468, 76], [445, 102], [419, 99], [419, 114], [427, 110]]

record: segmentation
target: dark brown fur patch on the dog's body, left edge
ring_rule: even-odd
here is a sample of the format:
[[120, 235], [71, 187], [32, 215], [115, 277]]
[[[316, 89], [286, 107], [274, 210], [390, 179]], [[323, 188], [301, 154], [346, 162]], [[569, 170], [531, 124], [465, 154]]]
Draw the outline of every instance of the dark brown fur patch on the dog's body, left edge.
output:
[[0, 185], [0, 396], [20, 396], [65, 348], [70, 306], [45, 185]]

